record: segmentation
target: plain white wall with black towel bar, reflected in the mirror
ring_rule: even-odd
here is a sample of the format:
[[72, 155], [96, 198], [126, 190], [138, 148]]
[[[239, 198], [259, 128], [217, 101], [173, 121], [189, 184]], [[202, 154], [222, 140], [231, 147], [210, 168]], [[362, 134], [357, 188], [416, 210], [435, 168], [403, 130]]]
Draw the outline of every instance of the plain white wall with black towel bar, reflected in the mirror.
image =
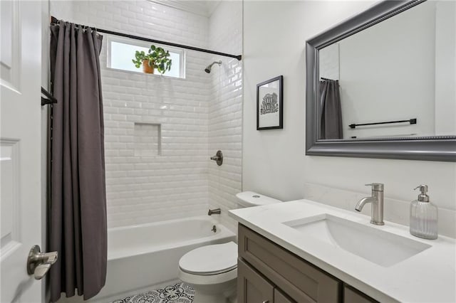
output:
[[435, 135], [435, 35], [435, 2], [426, 1], [338, 42], [344, 139]]

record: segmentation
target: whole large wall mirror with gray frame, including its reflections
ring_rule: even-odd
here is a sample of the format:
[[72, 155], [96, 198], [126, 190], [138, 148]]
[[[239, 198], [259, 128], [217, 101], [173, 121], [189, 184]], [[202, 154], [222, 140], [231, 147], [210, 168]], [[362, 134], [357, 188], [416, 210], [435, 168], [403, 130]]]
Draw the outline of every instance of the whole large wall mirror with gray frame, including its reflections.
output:
[[456, 2], [382, 1], [306, 41], [306, 155], [456, 161]]

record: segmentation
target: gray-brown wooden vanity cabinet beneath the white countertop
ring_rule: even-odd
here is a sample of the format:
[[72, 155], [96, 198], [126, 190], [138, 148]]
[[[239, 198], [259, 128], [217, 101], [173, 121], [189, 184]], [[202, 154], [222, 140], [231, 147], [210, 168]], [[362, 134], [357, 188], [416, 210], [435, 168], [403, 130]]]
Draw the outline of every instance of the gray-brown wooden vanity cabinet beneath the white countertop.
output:
[[238, 250], [239, 303], [375, 302], [242, 224]]

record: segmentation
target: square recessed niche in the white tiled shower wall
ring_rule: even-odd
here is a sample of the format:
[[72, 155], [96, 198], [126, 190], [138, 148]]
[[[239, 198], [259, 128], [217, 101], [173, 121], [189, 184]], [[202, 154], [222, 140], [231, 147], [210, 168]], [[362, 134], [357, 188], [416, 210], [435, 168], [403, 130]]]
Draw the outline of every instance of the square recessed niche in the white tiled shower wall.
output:
[[161, 142], [160, 124], [135, 123], [135, 156], [160, 156]]

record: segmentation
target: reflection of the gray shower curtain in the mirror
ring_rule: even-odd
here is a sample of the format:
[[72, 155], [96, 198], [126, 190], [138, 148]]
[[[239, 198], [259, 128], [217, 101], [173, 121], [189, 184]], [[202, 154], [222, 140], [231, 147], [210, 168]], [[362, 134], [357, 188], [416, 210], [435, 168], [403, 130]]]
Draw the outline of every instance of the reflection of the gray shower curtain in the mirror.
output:
[[337, 80], [320, 81], [319, 139], [343, 139], [341, 93]]

